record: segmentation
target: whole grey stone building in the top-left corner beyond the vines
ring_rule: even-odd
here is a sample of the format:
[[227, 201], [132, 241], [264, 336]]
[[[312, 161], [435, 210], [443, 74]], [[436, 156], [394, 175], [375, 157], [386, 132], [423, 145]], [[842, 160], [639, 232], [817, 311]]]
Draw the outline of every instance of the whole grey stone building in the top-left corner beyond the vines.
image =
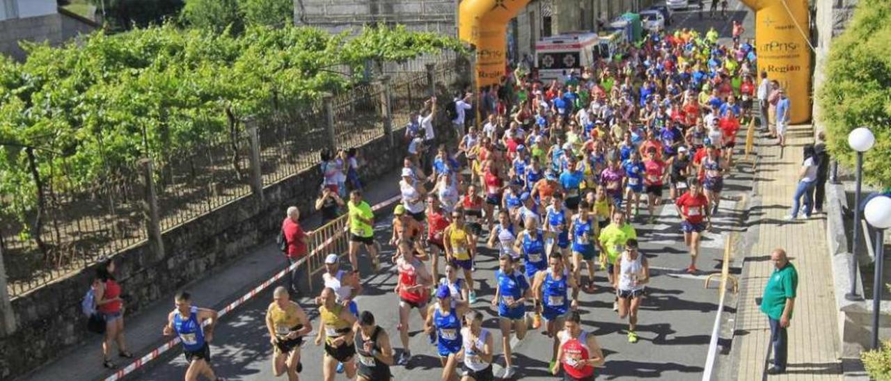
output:
[[21, 40], [57, 45], [97, 27], [93, 20], [60, 8], [56, 0], [0, 0], [0, 53], [19, 61], [25, 58]]

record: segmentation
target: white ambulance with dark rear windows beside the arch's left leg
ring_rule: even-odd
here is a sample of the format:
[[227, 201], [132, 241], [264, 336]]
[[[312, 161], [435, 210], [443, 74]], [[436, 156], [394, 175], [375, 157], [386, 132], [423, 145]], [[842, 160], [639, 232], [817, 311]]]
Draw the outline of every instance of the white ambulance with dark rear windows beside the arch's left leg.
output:
[[563, 79], [570, 70], [581, 74], [593, 64], [599, 37], [596, 33], [578, 32], [544, 37], [535, 44], [535, 69], [542, 81]]

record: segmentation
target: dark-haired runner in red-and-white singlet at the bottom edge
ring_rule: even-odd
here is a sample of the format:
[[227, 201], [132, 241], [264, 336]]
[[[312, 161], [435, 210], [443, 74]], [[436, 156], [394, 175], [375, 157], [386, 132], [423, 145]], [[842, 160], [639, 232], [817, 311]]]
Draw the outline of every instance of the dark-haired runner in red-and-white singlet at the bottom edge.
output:
[[557, 376], [562, 368], [564, 380], [593, 381], [594, 368], [602, 368], [605, 360], [594, 334], [582, 328], [582, 315], [577, 311], [569, 312], [558, 336], [560, 349], [557, 354], [560, 362], [552, 363], [552, 374]]

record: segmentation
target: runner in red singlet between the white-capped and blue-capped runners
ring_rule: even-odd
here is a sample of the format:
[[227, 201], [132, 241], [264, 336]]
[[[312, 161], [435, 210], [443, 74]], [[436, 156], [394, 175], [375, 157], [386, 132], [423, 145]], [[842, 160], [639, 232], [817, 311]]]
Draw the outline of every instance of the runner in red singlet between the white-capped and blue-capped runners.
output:
[[396, 364], [405, 366], [412, 358], [412, 351], [408, 346], [408, 315], [413, 308], [417, 308], [421, 319], [427, 319], [427, 300], [433, 280], [424, 264], [414, 257], [414, 251], [407, 241], [399, 241], [397, 249], [402, 255], [396, 260], [396, 271], [399, 272], [399, 279], [396, 283], [396, 295], [399, 296], [399, 325], [397, 329], [399, 329], [403, 351], [399, 354]]

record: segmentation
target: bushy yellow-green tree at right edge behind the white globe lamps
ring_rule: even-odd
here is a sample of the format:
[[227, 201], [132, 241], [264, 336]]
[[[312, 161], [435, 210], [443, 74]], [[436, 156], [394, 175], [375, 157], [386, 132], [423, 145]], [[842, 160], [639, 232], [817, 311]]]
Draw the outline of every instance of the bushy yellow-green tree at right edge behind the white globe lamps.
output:
[[830, 153], [848, 166], [847, 134], [869, 126], [875, 146], [863, 163], [865, 180], [891, 184], [891, 0], [860, 2], [848, 28], [833, 40], [826, 80], [818, 91]]

